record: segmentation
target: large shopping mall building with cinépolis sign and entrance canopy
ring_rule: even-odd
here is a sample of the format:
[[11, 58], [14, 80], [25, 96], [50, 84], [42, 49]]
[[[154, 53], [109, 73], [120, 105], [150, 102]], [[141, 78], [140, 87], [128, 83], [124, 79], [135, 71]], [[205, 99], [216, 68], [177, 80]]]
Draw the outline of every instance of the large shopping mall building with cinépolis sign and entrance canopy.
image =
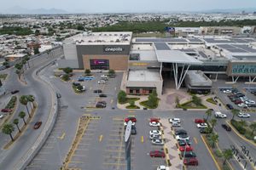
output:
[[[254, 82], [256, 40], [251, 37], [132, 37], [132, 32], [86, 32], [63, 42], [60, 68], [125, 72], [127, 94], [173, 88], [208, 92], [212, 79]], [[207, 86], [206, 86], [207, 84]]]

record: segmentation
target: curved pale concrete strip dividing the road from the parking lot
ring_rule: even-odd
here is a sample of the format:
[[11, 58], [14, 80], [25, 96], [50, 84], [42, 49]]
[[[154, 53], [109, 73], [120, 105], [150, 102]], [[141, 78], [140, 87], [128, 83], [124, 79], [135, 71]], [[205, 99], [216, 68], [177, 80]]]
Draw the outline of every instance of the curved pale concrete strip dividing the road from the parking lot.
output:
[[[50, 61], [48, 64], [41, 66], [38, 68], [37, 71], [34, 71], [33, 74], [38, 76], [38, 73], [42, 71], [46, 66], [50, 65], [52, 61]], [[45, 84], [47, 84], [47, 87], [49, 88], [49, 92], [51, 94], [51, 99], [52, 99], [52, 107], [51, 111], [49, 113], [47, 122], [45, 122], [44, 129], [42, 130], [42, 133], [38, 136], [38, 139], [35, 141], [35, 143], [32, 145], [32, 147], [27, 150], [26, 154], [22, 156], [19, 162], [15, 165], [15, 170], [23, 170], [26, 168], [26, 166], [32, 161], [34, 156], [37, 155], [38, 151], [42, 148], [44, 145], [46, 139], [49, 136], [49, 133], [51, 132], [52, 128], [55, 125], [55, 119], [58, 113], [58, 108], [59, 108], [59, 101], [55, 95], [55, 88], [45, 80], [45, 77], [38, 77], [38, 81], [41, 81]]]

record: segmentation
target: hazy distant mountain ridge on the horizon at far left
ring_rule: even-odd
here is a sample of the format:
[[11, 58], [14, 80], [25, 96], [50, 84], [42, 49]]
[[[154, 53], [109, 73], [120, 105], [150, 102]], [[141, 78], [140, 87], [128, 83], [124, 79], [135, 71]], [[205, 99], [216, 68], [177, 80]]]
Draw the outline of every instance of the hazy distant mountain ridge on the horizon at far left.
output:
[[28, 9], [20, 6], [8, 8], [3, 11], [4, 14], [67, 14], [68, 12], [59, 8], [35, 8]]

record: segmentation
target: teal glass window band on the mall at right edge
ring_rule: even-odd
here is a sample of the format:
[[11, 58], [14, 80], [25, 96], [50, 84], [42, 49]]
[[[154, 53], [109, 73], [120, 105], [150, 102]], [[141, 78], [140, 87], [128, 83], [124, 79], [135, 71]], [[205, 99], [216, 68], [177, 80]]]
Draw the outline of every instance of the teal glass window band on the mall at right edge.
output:
[[255, 74], [256, 65], [232, 65], [232, 74]]

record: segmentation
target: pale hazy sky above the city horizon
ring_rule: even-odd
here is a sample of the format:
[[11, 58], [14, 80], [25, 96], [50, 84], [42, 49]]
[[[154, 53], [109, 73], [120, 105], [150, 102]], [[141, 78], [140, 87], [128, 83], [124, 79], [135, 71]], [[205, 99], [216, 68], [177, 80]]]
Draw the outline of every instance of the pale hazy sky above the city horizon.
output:
[[256, 0], [0, 0], [0, 12], [21, 8], [60, 8], [67, 12], [175, 12], [225, 8], [256, 8]]

